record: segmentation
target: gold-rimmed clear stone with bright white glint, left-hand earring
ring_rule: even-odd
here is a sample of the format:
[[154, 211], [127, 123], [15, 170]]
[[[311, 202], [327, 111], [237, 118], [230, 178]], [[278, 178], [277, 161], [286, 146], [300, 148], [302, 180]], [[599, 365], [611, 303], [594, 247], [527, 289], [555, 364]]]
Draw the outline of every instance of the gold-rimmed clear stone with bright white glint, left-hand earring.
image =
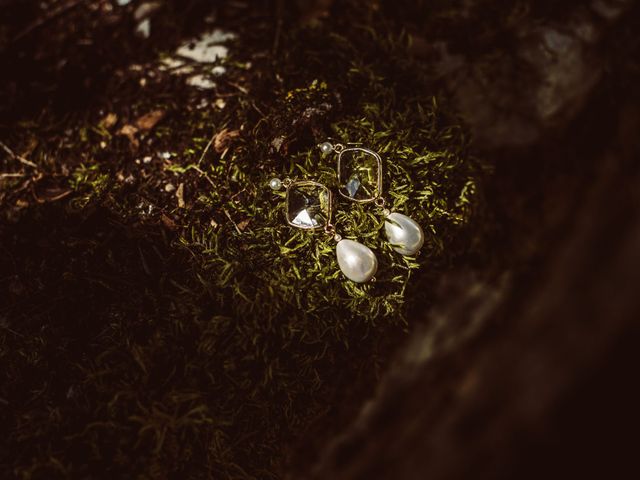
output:
[[329, 193], [318, 185], [292, 185], [289, 188], [287, 220], [299, 228], [319, 228], [327, 223]]

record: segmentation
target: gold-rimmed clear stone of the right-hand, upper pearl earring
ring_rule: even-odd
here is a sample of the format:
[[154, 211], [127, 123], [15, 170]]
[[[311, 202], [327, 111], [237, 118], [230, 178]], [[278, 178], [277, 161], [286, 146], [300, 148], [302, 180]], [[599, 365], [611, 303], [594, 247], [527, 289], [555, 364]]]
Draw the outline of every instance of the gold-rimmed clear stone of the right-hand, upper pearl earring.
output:
[[346, 149], [340, 153], [338, 178], [340, 192], [354, 200], [374, 200], [378, 192], [378, 159], [371, 153], [358, 149]]

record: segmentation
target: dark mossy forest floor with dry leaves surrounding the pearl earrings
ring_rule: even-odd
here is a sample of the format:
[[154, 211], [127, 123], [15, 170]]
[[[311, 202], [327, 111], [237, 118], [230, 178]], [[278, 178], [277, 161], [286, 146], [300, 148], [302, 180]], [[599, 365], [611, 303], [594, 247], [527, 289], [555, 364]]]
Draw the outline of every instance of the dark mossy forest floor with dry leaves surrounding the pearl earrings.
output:
[[[421, 24], [421, 2], [5, 3], [0, 473], [19, 478], [281, 478], [312, 461], [443, 275], [493, 281], [546, 254], [608, 132], [578, 139], [618, 86], [515, 164], [472, 142], [436, 40], [484, 54], [553, 2], [436, 2]], [[331, 238], [290, 229], [267, 186], [335, 187], [327, 138], [379, 151], [390, 204], [425, 230], [404, 258], [374, 209], [339, 203], [340, 233], [378, 255], [371, 284], [346, 281]]]

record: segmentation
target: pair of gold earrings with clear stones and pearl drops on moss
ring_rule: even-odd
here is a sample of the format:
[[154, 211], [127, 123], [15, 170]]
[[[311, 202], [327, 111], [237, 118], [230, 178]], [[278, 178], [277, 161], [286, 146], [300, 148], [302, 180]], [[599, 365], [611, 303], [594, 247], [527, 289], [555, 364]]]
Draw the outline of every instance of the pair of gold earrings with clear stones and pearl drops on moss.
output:
[[[353, 144], [349, 144], [353, 145]], [[385, 233], [392, 248], [401, 255], [413, 256], [424, 244], [424, 232], [413, 219], [385, 207], [382, 192], [382, 158], [368, 148], [323, 142], [320, 151], [338, 154], [338, 193], [358, 203], [373, 203], [385, 218]], [[333, 195], [325, 185], [311, 180], [269, 182], [273, 190], [286, 188], [286, 220], [302, 230], [324, 230], [336, 241], [338, 266], [344, 275], [357, 283], [368, 282], [378, 270], [373, 251], [354, 240], [342, 238], [331, 223]]]

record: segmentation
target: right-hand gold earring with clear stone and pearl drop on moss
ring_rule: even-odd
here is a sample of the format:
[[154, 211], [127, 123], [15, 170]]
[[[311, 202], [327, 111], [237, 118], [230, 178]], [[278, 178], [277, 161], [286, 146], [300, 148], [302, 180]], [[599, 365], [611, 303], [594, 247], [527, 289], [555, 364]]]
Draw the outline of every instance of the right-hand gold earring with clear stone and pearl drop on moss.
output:
[[341, 143], [323, 142], [319, 147], [323, 154], [338, 154], [338, 193], [352, 202], [374, 202], [385, 217], [384, 229], [392, 248], [401, 255], [416, 255], [424, 244], [424, 232], [412, 218], [385, 208], [380, 155], [368, 148]]

